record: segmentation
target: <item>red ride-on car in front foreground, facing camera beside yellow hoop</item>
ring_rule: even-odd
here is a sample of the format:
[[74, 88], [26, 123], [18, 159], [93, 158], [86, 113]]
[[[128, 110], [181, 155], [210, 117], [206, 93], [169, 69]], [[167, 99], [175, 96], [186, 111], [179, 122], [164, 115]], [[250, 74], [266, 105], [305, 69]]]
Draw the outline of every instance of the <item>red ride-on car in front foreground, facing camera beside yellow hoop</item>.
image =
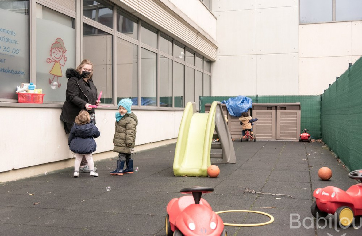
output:
[[181, 189], [192, 196], [173, 198], [167, 204], [167, 236], [227, 236], [224, 222], [212, 211], [209, 203], [201, 198], [202, 193], [211, 193], [213, 188], [193, 187]]

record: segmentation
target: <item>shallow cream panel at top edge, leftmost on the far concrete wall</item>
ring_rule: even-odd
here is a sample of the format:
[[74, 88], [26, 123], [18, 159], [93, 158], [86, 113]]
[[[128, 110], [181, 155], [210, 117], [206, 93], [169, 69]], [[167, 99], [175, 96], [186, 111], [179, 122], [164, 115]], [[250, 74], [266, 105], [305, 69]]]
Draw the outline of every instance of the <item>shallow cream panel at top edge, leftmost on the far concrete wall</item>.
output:
[[[176, 0], [177, 1], [177, 0]], [[255, 9], [256, 0], [212, 0], [212, 12]]]

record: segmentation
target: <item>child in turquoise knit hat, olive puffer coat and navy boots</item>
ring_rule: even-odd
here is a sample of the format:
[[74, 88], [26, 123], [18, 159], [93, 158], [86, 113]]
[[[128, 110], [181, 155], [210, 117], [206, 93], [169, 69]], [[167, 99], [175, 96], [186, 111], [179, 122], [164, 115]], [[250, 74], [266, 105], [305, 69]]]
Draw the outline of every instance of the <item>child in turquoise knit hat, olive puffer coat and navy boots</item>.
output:
[[[118, 153], [117, 168], [110, 172], [111, 175], [123, 175], [133, 173], [133, 159], [136, 140], [137, 117], [131, 112], [132, 100], [124, 98], [118, 103], [118, 111], [115, 113], [115, 133], [113, 137], [114, 149]], [[123, 170], [126, 162], [126, 169]]]

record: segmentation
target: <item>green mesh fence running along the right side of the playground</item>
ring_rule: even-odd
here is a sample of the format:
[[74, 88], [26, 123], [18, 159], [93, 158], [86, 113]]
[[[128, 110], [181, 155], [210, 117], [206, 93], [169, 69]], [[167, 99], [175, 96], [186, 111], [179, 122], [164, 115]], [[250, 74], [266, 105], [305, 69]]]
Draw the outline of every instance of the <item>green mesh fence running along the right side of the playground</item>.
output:
[[322, 94], [321, 133], [349, 170], [362, 169], [361, 58]]

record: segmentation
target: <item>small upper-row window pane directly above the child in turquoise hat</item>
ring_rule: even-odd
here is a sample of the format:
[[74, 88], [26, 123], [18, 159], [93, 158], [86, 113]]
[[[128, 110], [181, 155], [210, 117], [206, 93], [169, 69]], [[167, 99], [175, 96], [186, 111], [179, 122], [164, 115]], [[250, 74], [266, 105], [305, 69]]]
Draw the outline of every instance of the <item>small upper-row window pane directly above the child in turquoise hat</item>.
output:
[[133, 39], [138, 39], [138, 21], [117, 9], [117, 31]]

